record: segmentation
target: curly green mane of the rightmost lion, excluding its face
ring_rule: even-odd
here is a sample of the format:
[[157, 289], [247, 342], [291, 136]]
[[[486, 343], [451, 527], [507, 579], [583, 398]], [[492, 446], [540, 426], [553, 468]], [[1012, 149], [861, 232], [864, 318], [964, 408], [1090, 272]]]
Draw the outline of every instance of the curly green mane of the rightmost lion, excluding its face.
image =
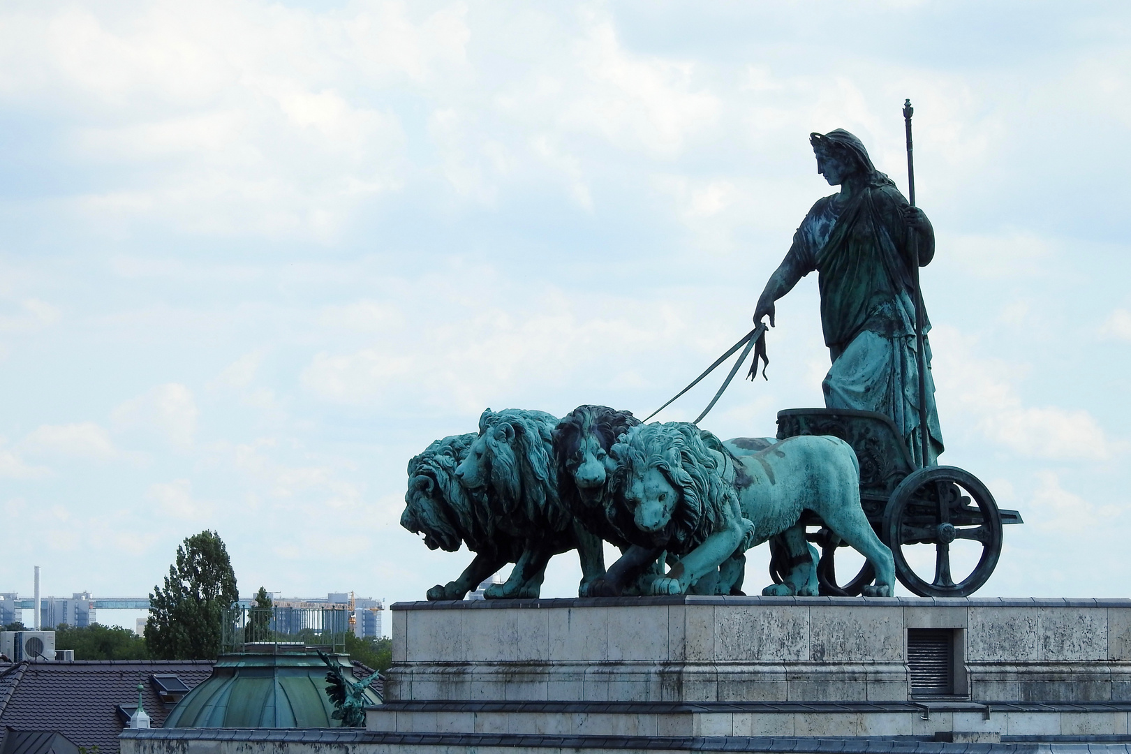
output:
[[[680, 492], [663, 535], [668, 551], [684, 555], [698, 547], [737, 509], [735, 466], [722, 441], [685, 422], [641, 424], [613, 445], [618, 483], [625, 488], [634, 477], [658, 469]], [[621, 504], [628, 505], [621, 497]], [[629, 519], [634, 511], [628, 510]], [[650, 534], [634, 525], [624, 532], [640, 545], [655, 545]]]

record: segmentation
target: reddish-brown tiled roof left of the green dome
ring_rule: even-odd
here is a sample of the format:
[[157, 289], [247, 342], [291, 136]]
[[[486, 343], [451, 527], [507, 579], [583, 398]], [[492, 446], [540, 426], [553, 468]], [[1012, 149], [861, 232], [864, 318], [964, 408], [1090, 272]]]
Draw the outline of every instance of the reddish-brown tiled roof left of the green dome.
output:
[[122, 722], [119, 704], [143, 702], [153, 727], [173, 709], [161, 703], [152, 675], [175, 675], [189, 688], [211, 675], [211, 660], [77, 660], [0, 665], [0, 726], [51, 730], [78, 746], [116, 754]]

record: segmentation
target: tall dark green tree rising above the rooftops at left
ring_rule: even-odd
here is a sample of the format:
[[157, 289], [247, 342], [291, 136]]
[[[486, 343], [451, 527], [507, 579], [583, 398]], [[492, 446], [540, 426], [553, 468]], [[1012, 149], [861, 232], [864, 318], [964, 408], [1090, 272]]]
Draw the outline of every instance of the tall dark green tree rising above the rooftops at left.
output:
[[224, 610], [240, 592], [227, 548], [215, 531], [201, 531], [176, 548], [165, 587], [149, 595], [145, 642], [165, 660], [207, 660], [219, 655]]

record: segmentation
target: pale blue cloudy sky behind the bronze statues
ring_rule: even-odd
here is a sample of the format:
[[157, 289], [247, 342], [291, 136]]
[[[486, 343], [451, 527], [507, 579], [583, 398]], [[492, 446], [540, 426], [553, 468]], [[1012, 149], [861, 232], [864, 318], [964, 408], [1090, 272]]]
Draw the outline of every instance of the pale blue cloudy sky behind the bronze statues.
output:
[[[1128, 596], [1129, 34], [1115, 2], [5, 2], [0, 591], [144, 595], [210, 528], [243, 593], [421, 598], [470, 556], [398, 526], [408, 458], [487, 406], [650, 413], [830, 193], [809, 132], [905, 188], [910, 97], [941, 460], [1026, 519], [979, 593]], [[706, 428], [821, 405], [815, 287]]]

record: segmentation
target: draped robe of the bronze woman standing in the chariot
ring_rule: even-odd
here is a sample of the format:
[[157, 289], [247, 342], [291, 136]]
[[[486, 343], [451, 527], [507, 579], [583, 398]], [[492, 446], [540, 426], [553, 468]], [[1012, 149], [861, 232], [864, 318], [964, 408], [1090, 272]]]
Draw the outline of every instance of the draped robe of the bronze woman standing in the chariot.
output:
[[[907, 200], [882, 173], [873, 174], [843, 205], [838, 194], [819, 200], [802, 222], [789, 254], [808, 275], [817, 270], [821, 328], [832, 366], [824, 382], [828, 408], [884, 414], [921, 462], [918, 361], [912, 236], [904, 219]], [[942, 432], [931, 378], [931, 329], [924, 311], [930, 460], [942, 452]]]

